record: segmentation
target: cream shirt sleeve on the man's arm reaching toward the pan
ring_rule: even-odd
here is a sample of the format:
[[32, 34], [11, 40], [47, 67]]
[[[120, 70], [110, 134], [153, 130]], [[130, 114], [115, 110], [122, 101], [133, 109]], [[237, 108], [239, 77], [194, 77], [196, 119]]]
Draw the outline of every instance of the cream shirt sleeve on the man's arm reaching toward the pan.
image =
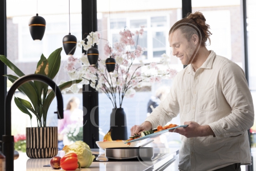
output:
[[152, 124], [152, 128], [156, 128], [158, 125], [165, 125], [168, 121], [172, 120], [173, 117], [178, 115], [180, 107], [177, 100], [177, 78], [178, 75], [174, 78], [166, 99], [161, 101], [159, 106], [156, 107], [145, 120]]

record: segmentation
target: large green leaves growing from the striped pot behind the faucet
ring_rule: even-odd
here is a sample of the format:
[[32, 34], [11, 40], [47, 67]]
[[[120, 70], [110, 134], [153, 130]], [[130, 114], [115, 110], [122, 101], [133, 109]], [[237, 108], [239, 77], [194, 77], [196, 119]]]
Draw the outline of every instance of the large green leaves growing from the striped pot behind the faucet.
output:
[[[56, 49], [54, 52], [51, 53], [48, 59], [42, 54], [36, 66], [35, 74], [45, 75], [45, 76], [48, 76], [48, 78], [54, 79], [59, 72], [61, 51], [62, 51], [62, 47]], [[9, 59], [7, 59], [6, 56], [0, 55], [0, 60], [3, 63], [5, 63], [7, 67], [13, 70], [15, 74], [17, 74], [19, 77], [25, 75], [21, 70], [19, 70], [18, 67], [16, 67]], [[4, 75], [4, 76], [6, 76], [12, 83], [14, 83], [15, 80], [19, 79], [18, 76], [14, 76], [14, 75]], [[81, 81], [82, 80], [72, 80], [70, 82], [63, 83], [58, 87], [62, 91], [65, 88], [71, 87], [72, 84], [77, 84], [77, 83], [80, 83]], [[47, 95], [48, 85], [39, 81], [34, 81], [34, 82], [31, 81], [31, 82], [24, 83], [22, 84], [22, 86], [18, 88], [18, 90], [25, 93], [25, 95], [29, 97], [29, 100], [31, 101], [31, 103], [27, 100], [15, 97], [14, 101], [17, 107], [23, 113], [26, 113], [27, 115], [29, 115], [30, 119], [32, 119], [32, 115], [34, 115], [36, 117], [38, 127], [46, 127], [47, 112], [52, 100], [55, 97], [54, 92], [51, 91]], [[43, 123], [42, 123], [42, 119], [43, 119]]]

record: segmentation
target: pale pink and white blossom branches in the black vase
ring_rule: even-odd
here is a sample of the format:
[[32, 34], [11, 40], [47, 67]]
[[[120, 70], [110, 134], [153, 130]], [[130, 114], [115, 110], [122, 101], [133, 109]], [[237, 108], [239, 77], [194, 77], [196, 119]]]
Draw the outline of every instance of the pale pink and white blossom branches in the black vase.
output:
[[[70, 56], [66, 65], [68, 75], [71, 79], [82, 79], [82, 84], [90, 84], [97, 91], [104, 92], [115, 109], [118, 98], [121, 108], [124, 97], [133, 97], [136, 87], [143, 87], [145, 82], [160, 83], [161, 79], [172, 79], [177, 74], [176, 70], [169, 67], [170, 57], [166, 54], [161, 55], [159, 63], [143, 63], [141, 56], [145, 48], [138, 44], [139, 36], [143, 33], [143, 27], [135, 33], [128, 28], [120, 31], [120, 40], [113, 43], [113, 47], [109, 42], [105, 43], [104, 55], [99, 56], [97, 67], [90, 65], [86, 54], [82, 54], [81, 58]], [[99, 32], [91, 32], [86, 41], [79, 41], [78, 46], [88, 50], [92, 44], [99, 44], [100, 40]], [[105, 68], [108, 56], [116, 60], [112, 73]]]

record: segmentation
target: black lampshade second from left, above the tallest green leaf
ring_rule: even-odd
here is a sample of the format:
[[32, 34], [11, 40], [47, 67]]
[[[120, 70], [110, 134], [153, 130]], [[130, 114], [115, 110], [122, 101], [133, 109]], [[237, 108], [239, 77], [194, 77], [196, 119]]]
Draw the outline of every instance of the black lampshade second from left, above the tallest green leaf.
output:
[[63, 48], [67, 55], [74, 55], [76, 51], [76, 37], [71, 35], [70, 33], [64, 36], [63, 40]]

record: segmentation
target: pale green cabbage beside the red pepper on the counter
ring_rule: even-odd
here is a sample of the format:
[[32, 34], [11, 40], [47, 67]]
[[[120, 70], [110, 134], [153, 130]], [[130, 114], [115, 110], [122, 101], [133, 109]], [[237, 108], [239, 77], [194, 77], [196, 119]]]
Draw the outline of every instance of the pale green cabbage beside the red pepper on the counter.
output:
[[81, 168], [88, 168], [95, 158], [95, 156], [92, 155], [89, 145], [83, 141], [75, 141], [75, 143], [71, 145], [65, 145], [62, 150], [64, 150], [66, 154], [76, 153], [76, 155], [78, 155], [78, 161], [80, 162]]

